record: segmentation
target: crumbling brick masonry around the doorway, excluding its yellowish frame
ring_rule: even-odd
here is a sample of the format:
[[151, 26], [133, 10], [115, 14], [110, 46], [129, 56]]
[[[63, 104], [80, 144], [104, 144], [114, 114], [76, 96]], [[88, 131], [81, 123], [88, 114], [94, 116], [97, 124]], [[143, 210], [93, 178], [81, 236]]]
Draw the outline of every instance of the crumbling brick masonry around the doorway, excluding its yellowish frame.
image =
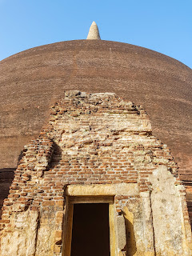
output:
[[[9, 256], [14, 251], [7, 244], [8, 234], [12, 234], [16, 241], [17, 234], [26, 236], [28, 226], [21, 230], [22, 224], [19, 224], [25, 224], [26, 218], [29, 218], [28, 225], [33, 222], [33, 230], [38, 230], [36, 233], [30, 232], [35, 241], [34, 247], [31, 247], [31, 251], [35, 251], [34, 255], [60, 255], [61, 245], [58, 243], [62, 240], [65, 187], [120, 183], [138, 184], [139, 193], [134, 198], [129, 194], [115, 195], [116, 212], [119, 214], [125, 207], [129, 207], [136, 223], [135, 229], [139, 229], [139, 225], [141, 228], [136, 238], [138, 251], [141, 247], [144, 248], [141, 253], [147, 250], [153, 253], [153, 223], [149, 212], [155, 202], [150, 202], [150, 193], [159, 193], [156, 183], [152, 181], [155, 175], [161, 175], [162, 172], [168, 175], [172, 188], [170, 198], [166, 199], [167, 203], [170, 200], [170, 204], [173, 203], [179, 209], [178, 215], [175, 214], [173, 218], [173, 225], [179, 216], [175, 232], [180, 232], [179, 239], [182, 241], [178, 247], [169, 245], [169, 251], [168, 247], [165, 249], [165, 245], [162, 245], [163, 250], [165, 255], [190, 255], [190, 226], [185, 190], [179, 181], [174, 158], [167, 146], [153, 136], [146, 112], [141, 106], [124, 102], [115, 94], [66, 92], [65, 98], [51, 108], [50, 121], [39, 138], [30, 142], [23, 150], [23, 157], [10, 186], [10, 194], [3, 205], [2, 255]], [[161, 180], [162, 176], [159, 177], [158, 180]], [[173, 191], [176, 195], [173, 195]], [[166, 205], [162, 204], [160, 214], [164, 218], [163, 209], [166, 211]], [[169, 222], [170, 212], [166, 212], [166, 216]], [[148, 231], [146, 232], [143, 223], [149, 226], [148, 238]], [[168, 227], [166, 231], [170, 232]], [[171, 237], [170, 233], [169, 235]], [[169, 235], [167, 234], [167, 239], [170, 239]], [[142, 236], [146, 236], [146, 241], [150, 240], [149, 244], [142, 244]], [[15, 251], [20, 251], [20, 256], [24, 255], [22, 245], [18, 243], [14, 246]], [[157, 253], [160, 255], [162, 248], [157, 249]]]

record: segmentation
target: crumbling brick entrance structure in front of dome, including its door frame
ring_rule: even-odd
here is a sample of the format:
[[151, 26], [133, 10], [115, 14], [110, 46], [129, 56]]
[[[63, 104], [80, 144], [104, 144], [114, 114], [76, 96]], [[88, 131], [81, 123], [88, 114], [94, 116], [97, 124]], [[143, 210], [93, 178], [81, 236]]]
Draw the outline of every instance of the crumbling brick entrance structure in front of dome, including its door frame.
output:
[[190, 256], [185, 195], [142, 106], [67, 91], [23, 150], [2, 208], [1, 255], [70, 256], [74, 205], [106, 203], [111, 256]]

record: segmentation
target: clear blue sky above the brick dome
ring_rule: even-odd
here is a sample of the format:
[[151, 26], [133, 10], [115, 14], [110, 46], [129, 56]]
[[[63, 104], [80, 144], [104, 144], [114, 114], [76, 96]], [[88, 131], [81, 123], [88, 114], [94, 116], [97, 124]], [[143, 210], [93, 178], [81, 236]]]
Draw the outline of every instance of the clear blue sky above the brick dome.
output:
[[192, 0], [0, 0], [0, 60], [52, 42], [102, 39], [157, 50], [192, 68]]

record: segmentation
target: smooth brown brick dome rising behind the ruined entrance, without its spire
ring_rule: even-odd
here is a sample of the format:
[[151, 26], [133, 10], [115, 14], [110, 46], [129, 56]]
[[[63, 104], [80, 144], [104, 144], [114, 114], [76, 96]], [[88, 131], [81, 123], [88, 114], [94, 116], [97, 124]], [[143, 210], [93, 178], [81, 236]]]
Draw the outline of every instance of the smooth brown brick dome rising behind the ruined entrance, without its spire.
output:
[[192, 71], [174, 58], [103, 40], [57, 42], [0, 62], [0, 168], [14, 168], [66, 90], [114, 92], [142, 105], [153, 133], [172, 151], [179, 172], [192, 165]]

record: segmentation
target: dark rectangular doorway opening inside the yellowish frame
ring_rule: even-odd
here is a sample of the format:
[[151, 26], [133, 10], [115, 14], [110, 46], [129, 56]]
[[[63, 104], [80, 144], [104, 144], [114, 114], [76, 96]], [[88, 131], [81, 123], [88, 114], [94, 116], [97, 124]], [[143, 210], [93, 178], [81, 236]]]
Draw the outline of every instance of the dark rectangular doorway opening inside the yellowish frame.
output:
[[74, 204], [71, 256], [110, 256], [108, 203]]

